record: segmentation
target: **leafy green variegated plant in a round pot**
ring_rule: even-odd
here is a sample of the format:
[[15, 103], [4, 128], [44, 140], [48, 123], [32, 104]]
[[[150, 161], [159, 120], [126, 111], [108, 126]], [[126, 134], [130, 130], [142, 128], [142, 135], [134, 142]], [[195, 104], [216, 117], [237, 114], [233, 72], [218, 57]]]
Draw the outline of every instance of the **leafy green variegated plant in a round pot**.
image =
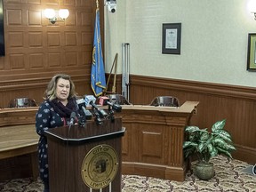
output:
[[210, 162], [213, 156], [223, 155], [232, 159], [231, 152], [236, 150], [230, 134], [224, 130], [226, 119], [212, 125], [212, 132], [207, 128], [187, 126], [185, 133], [187, 140], [183, 143], [185, 159], [197, 156], [195, 174], [201, 180], [209, 180], [214, 175], [214, 167]]

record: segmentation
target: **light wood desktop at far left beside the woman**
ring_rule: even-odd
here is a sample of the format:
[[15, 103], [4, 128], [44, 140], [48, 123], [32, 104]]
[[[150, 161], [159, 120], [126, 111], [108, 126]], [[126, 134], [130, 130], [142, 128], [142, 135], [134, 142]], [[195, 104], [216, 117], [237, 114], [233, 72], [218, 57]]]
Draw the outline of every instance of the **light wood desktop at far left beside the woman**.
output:
[[35, 152], [38, 139], [35, 124], [1, 127], [0, 159]]

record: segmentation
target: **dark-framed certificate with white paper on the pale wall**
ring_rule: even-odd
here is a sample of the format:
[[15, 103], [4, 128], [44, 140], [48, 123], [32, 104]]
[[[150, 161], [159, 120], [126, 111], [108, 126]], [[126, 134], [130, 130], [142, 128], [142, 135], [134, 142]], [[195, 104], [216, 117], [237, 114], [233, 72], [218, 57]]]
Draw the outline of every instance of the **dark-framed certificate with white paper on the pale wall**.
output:
[[162, 53], [180, 54], [181, 23], [164, 23]]

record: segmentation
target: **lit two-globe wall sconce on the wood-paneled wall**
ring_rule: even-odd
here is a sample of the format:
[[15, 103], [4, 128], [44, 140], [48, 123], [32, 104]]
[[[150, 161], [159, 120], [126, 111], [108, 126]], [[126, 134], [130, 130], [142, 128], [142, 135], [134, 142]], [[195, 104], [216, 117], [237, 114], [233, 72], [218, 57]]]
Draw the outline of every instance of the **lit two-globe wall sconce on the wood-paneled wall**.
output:
[[53, 9], [45, 9], [44, 10], [44, 16], [50, 20], [52, 24], [54, 24], [56, 21], [64, 21], [69, 16], [68, 9], [60, 9], [59, 12], [55, 11]]

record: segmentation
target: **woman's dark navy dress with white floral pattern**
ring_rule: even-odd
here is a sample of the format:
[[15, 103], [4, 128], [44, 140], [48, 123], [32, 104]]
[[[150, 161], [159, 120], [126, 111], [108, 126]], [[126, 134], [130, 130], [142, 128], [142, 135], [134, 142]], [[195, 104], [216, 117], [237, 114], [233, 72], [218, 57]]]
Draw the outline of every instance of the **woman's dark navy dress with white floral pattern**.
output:
[[36, 132], [40, 135], [38, 141], [38, 159], [39, 159], [39, 174], [43, 181], [49, 180], [48, 156], [47, 156], [47, 138], [44, 136], [44, 131], [63, 126], [66, 119], [56, 113], [47, 100], [39, 107], [36, 113]]

